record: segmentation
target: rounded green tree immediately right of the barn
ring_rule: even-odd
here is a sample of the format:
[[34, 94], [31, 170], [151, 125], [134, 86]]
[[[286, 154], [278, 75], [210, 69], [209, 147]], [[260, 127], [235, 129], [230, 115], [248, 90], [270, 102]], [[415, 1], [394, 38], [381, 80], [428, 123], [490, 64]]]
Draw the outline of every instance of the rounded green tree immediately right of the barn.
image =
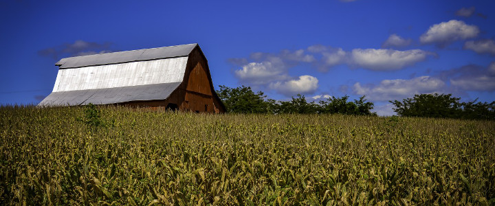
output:
[[254, 93], [251, 87], [230, 88], [220, 85], [217, 91], [228, 113], [269, 113], [273, 111], [275, 100], [265, 100], [262, 91]]

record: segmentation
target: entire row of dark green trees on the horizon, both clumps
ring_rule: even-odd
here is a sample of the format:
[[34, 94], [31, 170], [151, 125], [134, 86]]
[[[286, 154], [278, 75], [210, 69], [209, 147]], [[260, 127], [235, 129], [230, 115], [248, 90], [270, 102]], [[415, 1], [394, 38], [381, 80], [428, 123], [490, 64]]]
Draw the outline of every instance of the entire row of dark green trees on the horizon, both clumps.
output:
[[[375, 104], [366, 100], [349, 100], [348, 95], [331, 97], [318, 102], [308, 102], [304, 95], [296, 95], [288, 101], [267, 98], [263, 91], [252, 91], [251, 87], [219, 86], [220, 100], [228, 113], [300, 113], [300, 114], [344, 114], [377, 115], [372, 112]], [[452, 94], [419, 94], [413, 98], [390, 101], [393, 111], [403, 117], [445, 117], [458, 119], [495, 119], [495, 101], [491, 103], [460, 102]]]

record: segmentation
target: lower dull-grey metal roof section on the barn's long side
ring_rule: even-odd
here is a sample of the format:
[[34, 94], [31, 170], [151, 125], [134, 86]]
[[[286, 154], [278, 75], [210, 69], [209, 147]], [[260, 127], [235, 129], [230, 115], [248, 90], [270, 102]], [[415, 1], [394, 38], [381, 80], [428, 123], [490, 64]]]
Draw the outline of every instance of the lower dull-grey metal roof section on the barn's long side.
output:
[[52, 92], [38, 106], [74, 106], [121, 102], [165, 100], [181, 82], [146, 84], [132, 87]]

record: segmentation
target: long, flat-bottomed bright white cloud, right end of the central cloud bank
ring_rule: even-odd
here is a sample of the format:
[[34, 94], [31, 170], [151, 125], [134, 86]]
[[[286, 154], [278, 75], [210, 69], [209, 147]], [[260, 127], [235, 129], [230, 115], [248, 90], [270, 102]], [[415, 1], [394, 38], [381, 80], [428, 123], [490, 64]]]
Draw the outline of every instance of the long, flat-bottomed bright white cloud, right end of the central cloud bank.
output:
[[415, 65], [426, 59], [430, 52], [420, 49], [397, 51], [394, 49], [353, 49], [352, 63], [376, 71], [397, 70]]

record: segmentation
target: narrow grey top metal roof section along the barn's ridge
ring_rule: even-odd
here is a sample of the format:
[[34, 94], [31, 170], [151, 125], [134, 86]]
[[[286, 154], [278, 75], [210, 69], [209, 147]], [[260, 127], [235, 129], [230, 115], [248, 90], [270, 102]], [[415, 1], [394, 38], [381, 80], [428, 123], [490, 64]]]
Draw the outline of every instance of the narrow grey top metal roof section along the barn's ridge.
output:
[[94, 65], [109, 65], [122, 62], [135, 62], [141, 60], [152, 60], [159, 58], [173, 58], [188, 56], [197, 43], [189, 45], [177, 45], [171, 47], [159, 47], [153, 49], [139, 49], [126, 52], [113, 52], [105, 54], [94, 54], [88, 56], [76, 56], [63, 58], [55, 65], [60, 69], [87, 67]]

